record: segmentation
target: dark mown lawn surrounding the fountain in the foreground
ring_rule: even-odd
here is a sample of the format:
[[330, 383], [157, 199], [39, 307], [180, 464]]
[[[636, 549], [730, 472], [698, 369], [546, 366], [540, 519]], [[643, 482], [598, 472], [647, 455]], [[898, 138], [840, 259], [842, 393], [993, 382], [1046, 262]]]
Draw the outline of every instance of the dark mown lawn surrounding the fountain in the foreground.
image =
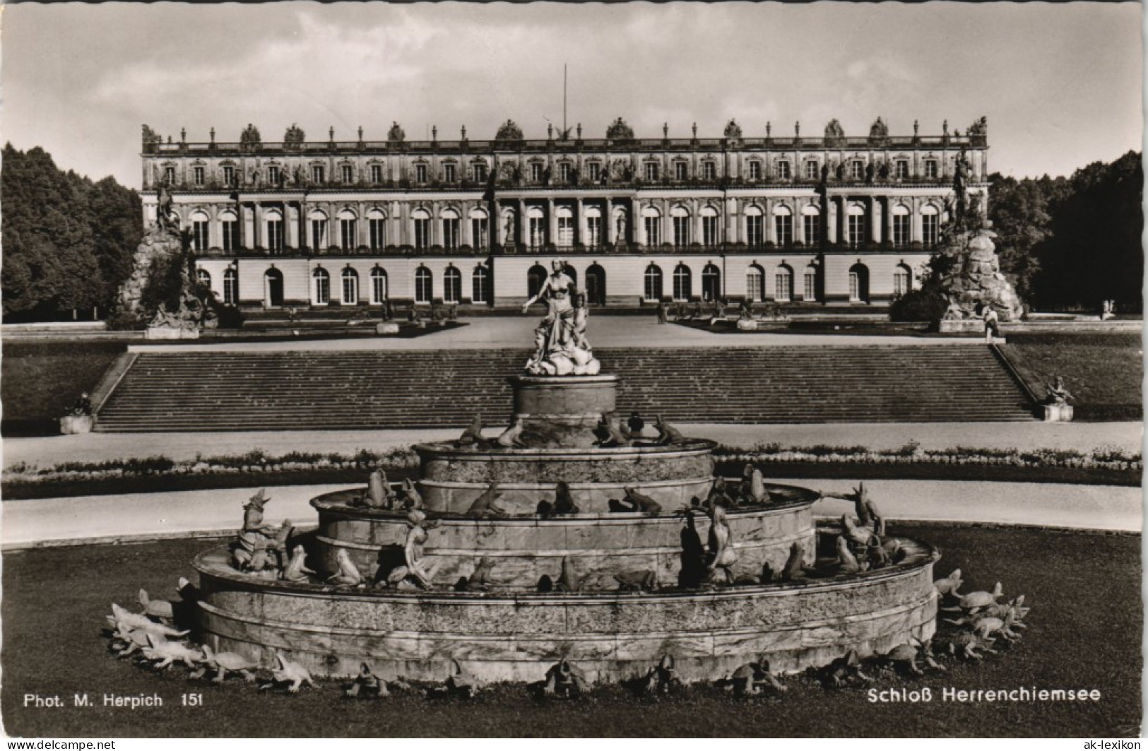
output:
[[[295, 697], [251, 686], [191, 682], [113, 659], [100, 629], [109, 603], [133, 604], [140, 587], [173, 595], [176, 578], [210, 541], [169, 541], [9, 552], [3, 556], [5, 729], [22, 736], [1072, 736], [1139, 733], [1141, 717], [1140, 536], [1035, 528], [895, 524], [938, 545], [938, 574], [964, 572], [964, 590], [1004, 584], [1032, 606], [1021, 642], [980, 664], [948, 663], [922, 679], [877, 688], [929, 688], [930, 703], [870, 703], [862, 688], [830, 690], [785, 679], [783, 698], [736, 700], [709, 687], [664, 699], [619, 687], [584, 700], [546, 703], [522, 686], [491, 687], [472, 700], [395, 696], [348, 702], [320, 683]], [[540, 675], [541, 678], [541, 675]], [[953, 689], [1096, 689], [1099, 702], [946, 703]], [[164, 706], [111, 709], [104, 692], [158, 695]], [[184, 692], [202, 707], [181, 705]], [[65, 709], [25, 709], [25, 694], [60, 696]], [[73, 709], [76, 694], [94, 704]]]

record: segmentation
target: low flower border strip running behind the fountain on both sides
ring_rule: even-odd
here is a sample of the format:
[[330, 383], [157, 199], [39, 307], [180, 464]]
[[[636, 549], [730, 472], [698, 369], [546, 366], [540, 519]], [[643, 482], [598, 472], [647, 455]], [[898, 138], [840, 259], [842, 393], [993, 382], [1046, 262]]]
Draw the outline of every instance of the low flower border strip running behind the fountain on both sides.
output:
[[[1089, 454], [1071, 449], [987, 449], [955, 447], [924, 450], [915, 442], [897, 449], [863, 446], [783, 447], [758, 444], [750, 449], [721, 446], [714, 451], [719, 472], [739, 475], [745, 464], [767, 475], [786, 478], [995, 480], [1021, 482], [1081, 482], [1140, 485], [1139, 454], [1099, 447]], [[18, 463], [3, 473], [7, 500], [67, 497], [124, 493], [155, 493], [277, 485], [362, 483], [374, 466], [391, 479], [412, 477], [419, 465], [410, 447], [388, 451], [360, 449], [356, 454], [292, 451], [269, 456], [254, 450], [241, 455], [177, 462], [165, 456], [67, 462], [41, 467]]]

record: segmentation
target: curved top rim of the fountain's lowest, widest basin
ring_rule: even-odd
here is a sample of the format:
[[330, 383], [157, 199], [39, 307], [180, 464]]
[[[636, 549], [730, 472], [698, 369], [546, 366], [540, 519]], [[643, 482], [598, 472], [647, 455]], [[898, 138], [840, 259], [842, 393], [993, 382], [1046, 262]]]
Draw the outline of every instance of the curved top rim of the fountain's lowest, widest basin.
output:
[[930, 543], [909, 537], [891, 537], [900, 540], [902, 544], [909, 543], [920, 547], [921, 551], [914, 553], [913, 558], [893, 566], [879, 568], [877, 571], [862, 571], [852, 574], [837, 574], [823, 579], [806, 579], [791, 582], [770, 582], [768, 584], [742, 584], [736, 587], [719, 587], [714, 589], [696, 589], [689, 591], [604, 591], [604, 593], [490, 593], [476, 594], [472, 591], [450, 590], [359, 590], [339, 588], [328, 584], [300, 584], [281, 580], [259, 579], [240, 573], [232, 568], [222, 570], [219, 566], [208, 562], [212, 556], [228, 558], [226, 547], [211, 548], [195, 556], [192, 560], [194, 568], [201, 574], [214, 579], [225, 580], [236, 589], [266, 591], [273, 590], [282, 594], [290, 594], [301, 597], [317, 599], [355, 599], [364, 602], [411, 602], [442, 604], [497, 604], [497, 605], [577, 605], [577, 604], [610, 604], [610, 603], [634, 603], [634, 602], [696, 602], [698, 599], [737, 599], [748, 597], [783, 597], [794, 591], [816, 591], [823, 589], [848, 590], [879, 582], [883, 580], [898, 579], [906, 573], [923, 568], [934, 564], [940, 559], [940, 552]]

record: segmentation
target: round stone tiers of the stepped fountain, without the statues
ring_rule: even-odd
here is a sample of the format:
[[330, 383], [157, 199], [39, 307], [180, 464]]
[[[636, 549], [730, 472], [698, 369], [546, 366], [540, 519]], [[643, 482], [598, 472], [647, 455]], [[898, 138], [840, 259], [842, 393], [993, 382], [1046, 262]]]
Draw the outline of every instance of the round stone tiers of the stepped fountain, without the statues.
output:
[[[535, 372], [548, 370], [538, 365], [549, 362], [541, 347], [540, 355]], [[452, 660], [482, 680], [537, 681], [561, 658], [591, 681], [616, 681], [669, 653], [689, 681], [728, 675], [758, 656], [792, 672], [851, 649], [884, 652], [932, 635], [937, 553], [920, 542], [900, 539], [903, 557], [879, 570], [822, 566], [823, 575], [759, 582], [763, 564], [779, 572], [794, 544], [806, 566], [819, 551], [832, 556], [832, 537], [819, 533], [812, 513], [819, 496], [798, 487], [767, 485], [768, 502], [727, 513], [734, 580], [751, 583], [681, 587], [687, 522], [677, 511], [708, 496], [714, 443], [598, 447], [595, 429], [615, 409], [616, 382], [607, 374], [515, 378], [515, 432], [529, 448], [416, 447], [422, 510], [437, 524], [421, 560], [433, 572], [429, 588], [339, 587], [321, 575], [272, 581], [238, 571], [226, 549], [212, 550], [195, 560], [201, 641], [266, 663], [282, 650], [316, 675], [354, 675], [366, 661], [387, 679], [432, 681], [444, 679]], [[476, 518], [468, 511], [491, 482], [504, 516]], [[577, 513], [543, 518], [540, 502], [553, 502], [559, 482]], [[612, 512], [610, 500], [626, 487], [662, 511]], [[355, 488], [311, 502], [319, 527], [310, 560], [323, 574], [349, 559], [367, 582], [386, 582], [403, 563], [411, 521], [406, 510], [363, 506], [362, 496]], [[697, 524], [704, 540], [712, 521], [699, 513]], [[581, 586], [540, 591], [540, 581], [559, 581], [564, 560]], [[486, 590], [459, 587], [480, 564]], [[658, 584], [626, 591], [615, 574], [629, 572], [654, 572]]]

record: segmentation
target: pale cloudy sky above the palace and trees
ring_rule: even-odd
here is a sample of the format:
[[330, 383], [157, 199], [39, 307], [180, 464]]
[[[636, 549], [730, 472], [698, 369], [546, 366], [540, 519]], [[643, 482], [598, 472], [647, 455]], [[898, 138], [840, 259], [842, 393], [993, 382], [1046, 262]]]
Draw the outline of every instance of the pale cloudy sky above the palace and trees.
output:
[[1139, 3], [13, 5], [2, 10], [2, 137], [65, 169], [140, 185], [140, 125], [238, 140], [528, 138], [563, 117], [600, 138], [864, 136], [988, 117], [990, 168], [1069, 175], [1141, 148]]

